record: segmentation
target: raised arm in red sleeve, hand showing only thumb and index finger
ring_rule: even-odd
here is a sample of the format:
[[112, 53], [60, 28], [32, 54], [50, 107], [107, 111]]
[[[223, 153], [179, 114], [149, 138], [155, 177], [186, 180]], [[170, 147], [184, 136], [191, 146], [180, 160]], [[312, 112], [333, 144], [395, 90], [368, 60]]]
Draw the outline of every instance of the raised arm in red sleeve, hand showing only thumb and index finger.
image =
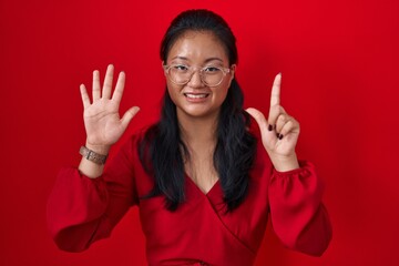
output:
[[299, 164], [295, 147], [299, 123], [280, 105], [280, 81], [274, 81], [268, 119], [256, 109], [247, 112], [260, 129], [262, 142], [274, 165], [269, 184], [272, 223], [282, 242], [296, 250], [321, 255], [331, 226], [321, 203], [323, 184], [309, 163]]

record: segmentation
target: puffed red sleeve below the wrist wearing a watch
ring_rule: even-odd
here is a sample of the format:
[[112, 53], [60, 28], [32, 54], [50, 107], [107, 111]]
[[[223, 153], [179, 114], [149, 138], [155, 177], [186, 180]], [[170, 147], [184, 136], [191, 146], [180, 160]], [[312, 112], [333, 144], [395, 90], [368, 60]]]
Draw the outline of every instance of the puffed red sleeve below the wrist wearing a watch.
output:
[[133, 141], [108, 162], [102, 176], [89, 178], [62, 168], [49, 196], [47, 219], [59, 248], [81, 252], [105, 238], [127, 209], [137, 204], [132, 164]]

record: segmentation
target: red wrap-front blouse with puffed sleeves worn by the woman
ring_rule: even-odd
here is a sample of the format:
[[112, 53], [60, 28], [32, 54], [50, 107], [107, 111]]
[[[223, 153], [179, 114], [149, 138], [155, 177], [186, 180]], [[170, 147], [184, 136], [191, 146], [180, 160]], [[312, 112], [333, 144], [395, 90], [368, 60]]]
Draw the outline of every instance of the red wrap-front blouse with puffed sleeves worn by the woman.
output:
[[130, 139], [99, 178], [61, 170], [48, 203], [49, 228], [61, 249], [81, 252], [110, 236], [134, 205], [150, 265], [253, 265], [268, 214], [287, 247], [315, 256], [327, 248], [331, 226], [321, 203], [323, 184], [310, 163], [279, 173], [259, 141], [248, 195], [238, 208], [225, 212], [218, 182], [204, 194], [186, 176], [186, 202], [170, 212], [163, 196], [141, 198], [153, 187], [137, 154], [143, 133]]

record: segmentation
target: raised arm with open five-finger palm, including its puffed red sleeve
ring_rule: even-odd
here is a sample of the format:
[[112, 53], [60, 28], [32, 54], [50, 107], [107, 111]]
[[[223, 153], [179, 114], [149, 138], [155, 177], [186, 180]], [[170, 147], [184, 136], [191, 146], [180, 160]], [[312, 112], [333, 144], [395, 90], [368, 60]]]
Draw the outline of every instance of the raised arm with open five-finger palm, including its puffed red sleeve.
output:
[[[81, 85], [86, 147], [100, 154], [108, 154], [139, 111], [132, 108], [120, 119], [124, 73], [120, 74], [111, 98], [112, 78], [113, 66], [110, 65], [101, 93], [99, 72], [94, 71], [92, 103], [84, 85]], [[109, 236], [135, 203], [131, 153], [132, 145], [126, 145], [115, 160], [108, 163], [104, 173], [104, 165], [84, 157], [79, 168], [60, 172], [48, 202], [49, 229], [60, 248], [80, 252], [94, 241]]]

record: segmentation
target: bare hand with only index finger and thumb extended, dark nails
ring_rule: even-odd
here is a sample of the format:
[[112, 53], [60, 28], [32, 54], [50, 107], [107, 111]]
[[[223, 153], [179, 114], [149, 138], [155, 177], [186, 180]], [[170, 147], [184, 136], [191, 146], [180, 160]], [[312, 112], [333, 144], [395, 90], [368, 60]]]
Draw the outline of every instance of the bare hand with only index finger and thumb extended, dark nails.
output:
[[298, 168], [295, 146], [299, 136], [299, 123], [280, 105], [282, 74], [277, 74], [272, 88], [270, 110], [266, 120], [262, 112], [249, 108], [246, 111], [260, 129], [262, 142], [277, 171]]

